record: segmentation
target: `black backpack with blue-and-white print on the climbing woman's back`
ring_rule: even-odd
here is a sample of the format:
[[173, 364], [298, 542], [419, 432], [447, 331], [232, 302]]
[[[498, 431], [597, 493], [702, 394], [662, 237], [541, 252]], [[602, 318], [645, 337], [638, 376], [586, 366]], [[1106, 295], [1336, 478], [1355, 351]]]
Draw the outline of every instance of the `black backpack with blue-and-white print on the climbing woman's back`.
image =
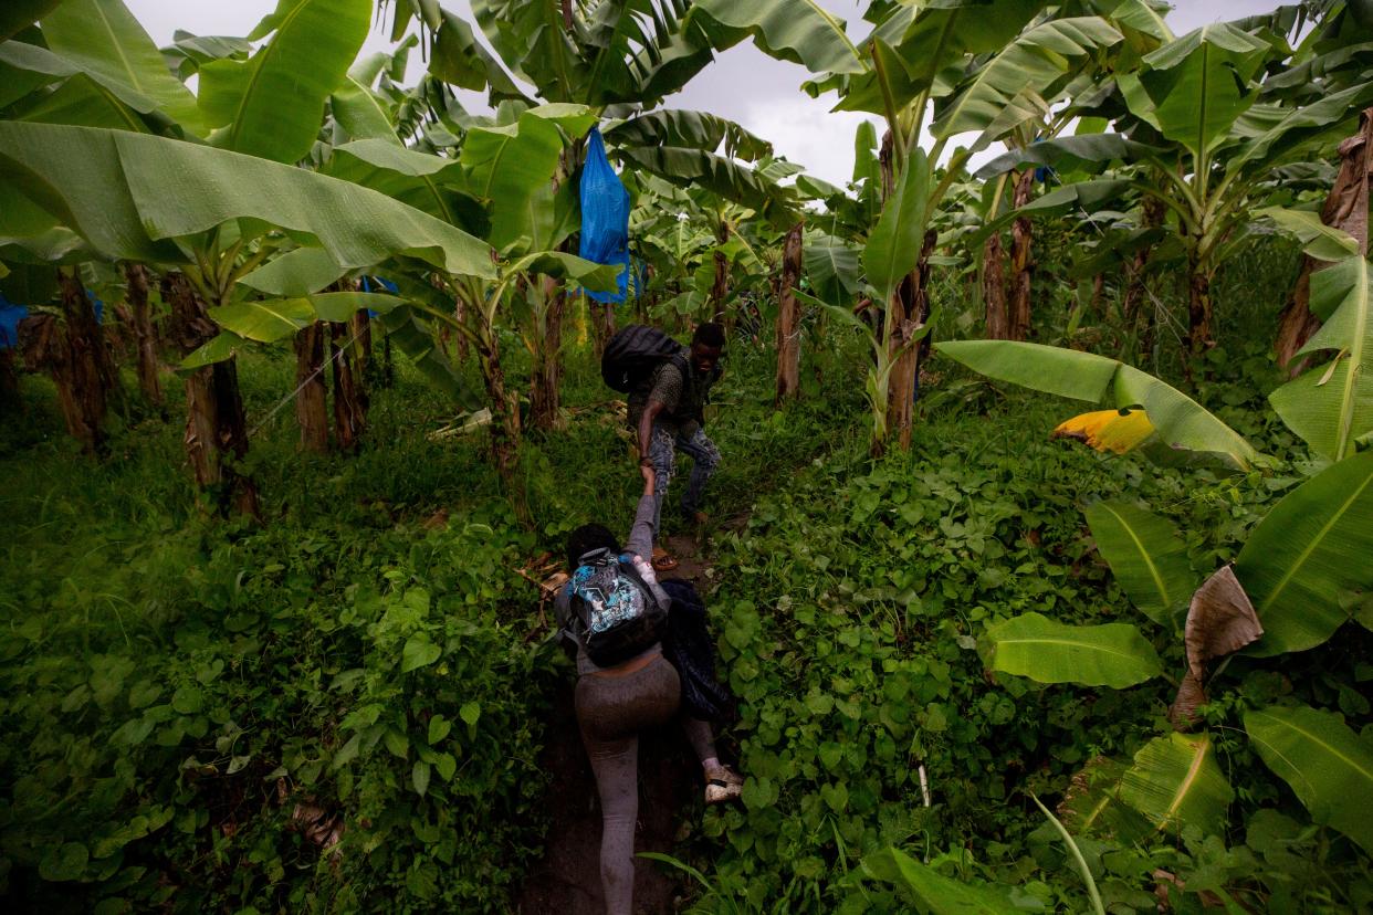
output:
[[575, 634], [596, 667], [643, 654], [667, 630], [667, 608], [627, 553], [615, 556], [604, 547], [586, 553], [566, 587]]

